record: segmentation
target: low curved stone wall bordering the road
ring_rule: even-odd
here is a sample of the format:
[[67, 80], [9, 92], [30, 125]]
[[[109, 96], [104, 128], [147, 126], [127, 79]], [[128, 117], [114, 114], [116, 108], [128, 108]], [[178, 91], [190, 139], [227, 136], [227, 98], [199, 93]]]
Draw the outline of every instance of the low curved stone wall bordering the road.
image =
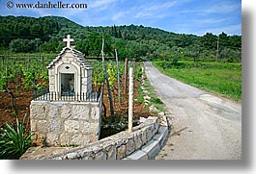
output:
[[[167, 123], [167, 122], [166, 122]], [[105, 137], [97, 142], [80, 147], [31, 147], [20, 158], [21, 160], [121, 160], [126, 157], [149, 149], [154, 145], [155, 150], [160, 148], [166, 137], [166, 126], [159, 128], [158, 118], [149, 117], [143, 123], [133, 128], [132, 133], [123, 131], [111, 137]], [[164, 135], [159, 130], [165, 128]], [[156, 149], [157, 147], [157, 149]], [[144, 152], [144, 151], [143, 151]], [[134, 156], [134, 155], [133, 155]], [[128, 159], [129, 160], [129, 159]]]

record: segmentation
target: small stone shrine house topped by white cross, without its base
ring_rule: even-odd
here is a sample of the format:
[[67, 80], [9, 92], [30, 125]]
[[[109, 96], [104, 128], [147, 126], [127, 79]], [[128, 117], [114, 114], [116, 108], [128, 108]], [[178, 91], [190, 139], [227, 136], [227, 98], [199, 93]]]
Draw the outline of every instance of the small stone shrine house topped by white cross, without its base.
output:
[[71, 48], [70, 35], [59, 56], [48, 65], [49, 91], [62, 95], [90, 93], [92, 90], [92, 66], [86, 62], [82, 53]]

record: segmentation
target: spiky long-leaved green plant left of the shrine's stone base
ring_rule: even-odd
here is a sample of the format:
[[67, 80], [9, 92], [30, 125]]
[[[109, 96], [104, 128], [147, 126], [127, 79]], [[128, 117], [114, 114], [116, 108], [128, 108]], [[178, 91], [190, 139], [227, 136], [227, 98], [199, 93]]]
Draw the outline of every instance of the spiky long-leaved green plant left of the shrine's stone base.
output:
[[25, 119], [26, 115], [20, 123], [16, 118], [15, 128], [6, 123], [6, 127], [0, 129], [0, 159], [19, 159], [31, 146], [31, 132]]

